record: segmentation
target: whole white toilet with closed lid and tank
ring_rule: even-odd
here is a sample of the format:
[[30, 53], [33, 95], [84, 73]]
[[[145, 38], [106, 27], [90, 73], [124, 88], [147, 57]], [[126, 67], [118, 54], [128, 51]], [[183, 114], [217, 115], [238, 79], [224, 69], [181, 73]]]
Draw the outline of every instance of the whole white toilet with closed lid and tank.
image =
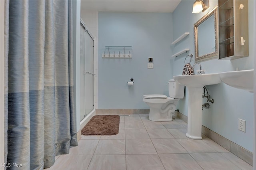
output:
[[184, 85], [169, 80], [169, 96], [166, 95], [144, 95], [143, 101], [150, 107], [150, 121], [172, 121], [172, 113], [176, 109], [179, 99], [184, 97]]

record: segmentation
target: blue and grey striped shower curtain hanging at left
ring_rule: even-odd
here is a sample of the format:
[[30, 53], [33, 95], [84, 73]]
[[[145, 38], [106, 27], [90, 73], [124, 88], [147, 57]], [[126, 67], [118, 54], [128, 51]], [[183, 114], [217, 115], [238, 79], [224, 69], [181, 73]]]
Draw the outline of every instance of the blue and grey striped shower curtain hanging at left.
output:
[[72, 1], [11, 0], [5, 11], [7, 169], [42, 170], [77, 146]]

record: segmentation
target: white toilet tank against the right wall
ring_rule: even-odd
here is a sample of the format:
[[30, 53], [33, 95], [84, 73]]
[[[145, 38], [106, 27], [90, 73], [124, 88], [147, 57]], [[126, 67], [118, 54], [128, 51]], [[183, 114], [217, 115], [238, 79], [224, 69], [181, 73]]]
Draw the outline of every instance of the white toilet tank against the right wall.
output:
[[184, 85], [177, 83], [174, 79], [169, 80], [169, 96], [174, 99], [183, 99]]

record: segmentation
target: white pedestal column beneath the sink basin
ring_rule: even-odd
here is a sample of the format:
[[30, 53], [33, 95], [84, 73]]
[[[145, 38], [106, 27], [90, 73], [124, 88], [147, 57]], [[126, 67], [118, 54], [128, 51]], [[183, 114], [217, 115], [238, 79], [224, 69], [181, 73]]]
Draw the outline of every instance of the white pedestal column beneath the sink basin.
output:
[[202, 87], [187, 87], [188, 89], [188, 132], [191, 139], [202, 139]]

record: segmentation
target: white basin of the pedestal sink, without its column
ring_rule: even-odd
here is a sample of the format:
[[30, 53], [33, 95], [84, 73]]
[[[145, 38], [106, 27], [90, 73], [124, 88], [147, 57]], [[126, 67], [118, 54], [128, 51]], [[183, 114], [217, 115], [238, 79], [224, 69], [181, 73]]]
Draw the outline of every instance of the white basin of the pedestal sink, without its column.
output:
[[221, 82], [218, 73], [200, 74], [200, 75], [176, 75], [173, 79], [186, 87], [204, 87], [205, 85], [214, 85]]

